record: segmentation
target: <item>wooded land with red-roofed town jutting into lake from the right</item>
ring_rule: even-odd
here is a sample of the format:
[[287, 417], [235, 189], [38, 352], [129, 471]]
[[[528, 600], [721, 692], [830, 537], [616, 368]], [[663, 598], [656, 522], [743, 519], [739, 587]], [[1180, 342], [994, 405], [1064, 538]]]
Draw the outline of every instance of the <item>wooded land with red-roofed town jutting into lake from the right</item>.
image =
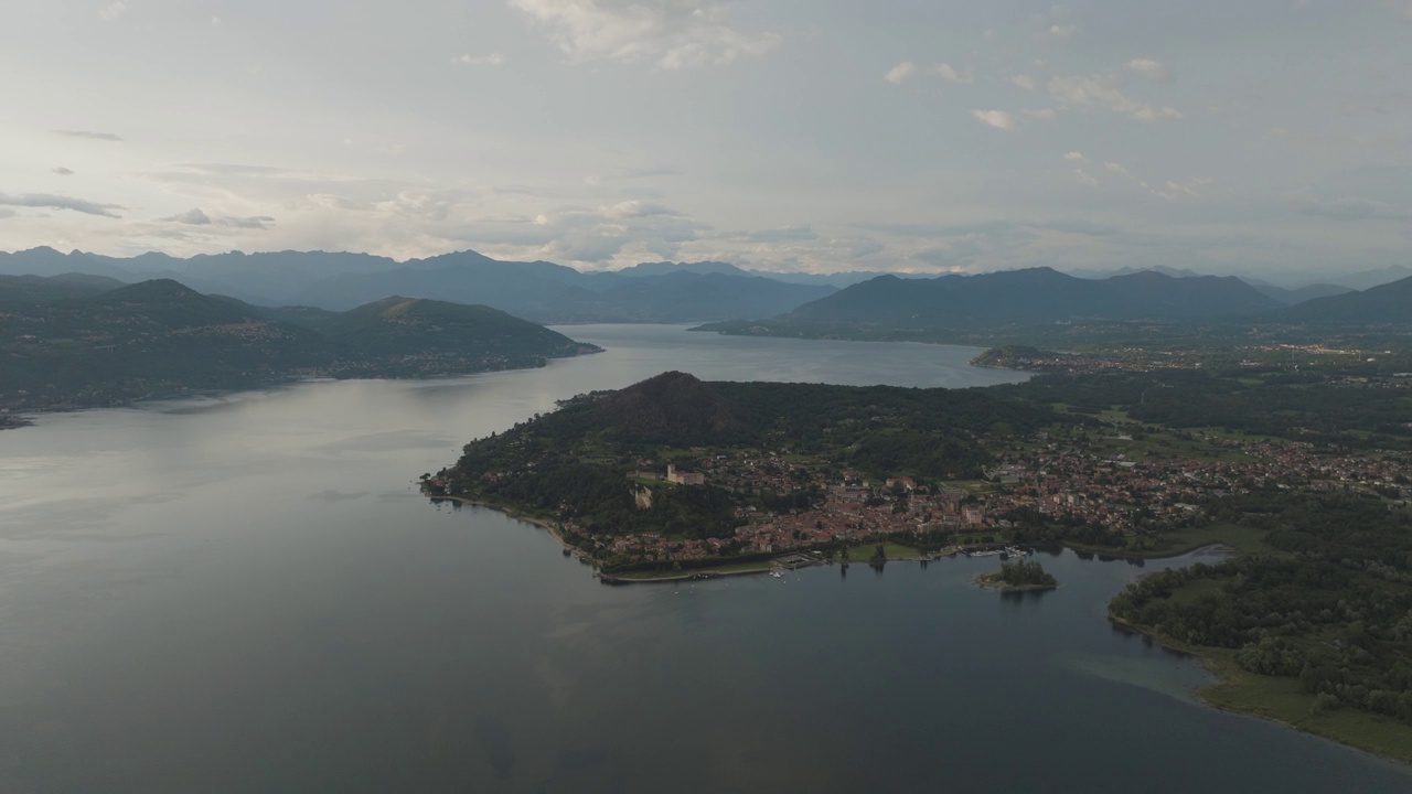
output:
[[[1113, 620], [1199, 656], [1221, 677], [1213, 705], [1412, 762], [1405, 352], [988, 357], [1045, 374], [918, 390], [664, 373], [473, 441], [424, 490], [531, 517], [609, 582], [1223, 545], [1219, 565], [1134, 582]], [[1056, 585], [1024, 559], [977, 583]]]

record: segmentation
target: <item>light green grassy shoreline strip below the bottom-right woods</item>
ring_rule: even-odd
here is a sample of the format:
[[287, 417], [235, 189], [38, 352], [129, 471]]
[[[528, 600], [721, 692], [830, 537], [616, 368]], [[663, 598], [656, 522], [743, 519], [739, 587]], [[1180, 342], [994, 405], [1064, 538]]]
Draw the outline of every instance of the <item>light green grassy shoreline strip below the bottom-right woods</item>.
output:
[[[1394, 742], [1389, 747], [1381, 747], [1381, 746], [1370, 746], [1368, 743], [1364, 742], [1357, 742], [1356, 739], [1350, 739], [1336, 728], [1330, 729], [1327, 725], [1319, 725], [1316, 722], [1312, 722], [1317, 716], [1324, 716], [1324, 715], [1309, 715], [1306, 721], [1296, 721], [1268, 711], [1240, 708], [1233, 702], [1220, 699], [1217, 697], [1217, 692], [1223, 689], [1238, 689], [1243, 684], [1243, 678], [1255, 675], [1254, 672], [1248, 672], [1240, 668], [1233, 668], [1234, 665], [1233, 661], [1227, 661], [1221, 658], [1220, 654], [1211, 653], [1217, 648], [1202, 648], [1199, 646], [1189, 646], [1186, 643], [1168, 637], [1166, 634], [1162, 634], [1156, 629], [1139, 626], [1137, 623], [1118, 617], [1113, 615], [1111, 610], [1107, 613], [1107, 617], [1111, 626], [1115, 626], [1123, 632], [1145, 637], [1171, 653], [1200, 661], [1202, 667], [1206, 668], [1206, 671], [1216, 678], [1216, 681], [1206, 684], [1204, 687], [1200, 687], [1195, 692], [1197, 702], [1200, 702], [1207, 708], [1223, 711], [1226, 713], [1240, 715], [1250, 719], [1262, 719], [1267, 722], [1274, 722], [1291, 730], [1298, 730], [1300, 733], [1315, 736], [1320, 740], [1332, 742], [1334, 745], [1339, 745], [1340, 747], [1348, 747], [1351, 750], [1365, 753], [1375, 759], [1404, 766], [1412, 766], [1412, 728], [1409, 726], [1405, 726], [1398, 722], [1389, 722], [1391, 725], [1396, 726], [1399, 732], [1404, 732], [1406, 735], [1406, 740]], [[1354, 719], [1361, 716], [1364, 719], [1372, 719], [1380, 722], [1384, 719], [1389, 719], [1384, 718], [1382, 715], [1374, 715], [1371, 712], [1363, 712], [1358, 709], [1351, 709], [1348, 706], [1341, 706], [1333, 712], [1326, 712], [1326, 713], [1327, 715], [1351, 713]]]

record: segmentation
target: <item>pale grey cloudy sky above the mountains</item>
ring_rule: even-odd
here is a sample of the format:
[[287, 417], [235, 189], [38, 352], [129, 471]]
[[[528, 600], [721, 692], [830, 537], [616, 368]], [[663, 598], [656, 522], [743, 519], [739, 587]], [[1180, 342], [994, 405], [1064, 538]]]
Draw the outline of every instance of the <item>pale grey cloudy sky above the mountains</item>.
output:
[[4, 0], [0, 250], [1412, 264], [1412, 0]]

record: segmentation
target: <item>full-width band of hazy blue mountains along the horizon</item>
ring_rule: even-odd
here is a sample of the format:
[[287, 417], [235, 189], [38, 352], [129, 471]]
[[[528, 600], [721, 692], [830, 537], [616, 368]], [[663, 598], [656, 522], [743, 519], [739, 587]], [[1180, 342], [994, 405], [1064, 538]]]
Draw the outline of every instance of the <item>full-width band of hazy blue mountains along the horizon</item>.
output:
[[[405, 295], [484, 304], [552, 324], [710, 322], [770, 318], [796, 309], [805, 315], [834, 311], [856, 315], [863, 311], [858, 301], [867, 304], [870, 300], [860, 295], [875, 295], [873, 300], [880, 302], [895, 295], [898, 311], [904, 314], [905, 307], [915, 309], [932, 300], [940, 301], [933, 307], [936, 311], [956, 314], [964, 308], [962, 304], [974, 300], [980, 302], [964, 308], [963, 314], [1005, 316], [1032, 309], [1039, 312], [1036, 316], [1049, 316], [1063, 307], [1059, 312], [1063, 315], [1197, 318], [1274, 311], [1281, 305], [1343, 294], [1356, 284], [1367, 287], [1405, 278], [1412, 275], [1412, 268], [1347, 274], [1340, 278], [1347, 285], [1316, 283], [1288, 288], [1261, 280], [1219, 278], [1172, 268], [1083, 271], [1083, 278], [1049, 268], [931, 277], [863, 271], [785, 274], [744, 270], [722, 261], [658, 261], [610, 273], [585, 273], [548, 261], [500, 261], [476, 251], [398, 263], [371, 254], [325, 251], [230, 251], [191, 259], [148, 253], [116, 259], [40, 247], [13, 254], [0, 251], [0, 274], [86, 274], [114, 280], [90, 281], [109, 285], [172, 278], [199, 292], [230, 295], [253, 305], [306, 305], [329, 311]], [[1155, 281], [1154, 274], [1169, 278]], [[887, 278], [875, 281], [880, 275]], [[78, 281], [72, 283], [82, 291]], [[6, 288], [23, 287], [11, 281]], [[840, 288], [856, 291], [840, 294], [832, 304], [803, 309]], [[1014, 298], [1003, 298], [1000, 292], [1007, 290], [1046, 294], [1035, 300], [1018, 292]], [[1052, 290], [1058, 292], [1049, 294]], [[1003, 308], [1005, 301], [1011, 301], [1010, 309]]]

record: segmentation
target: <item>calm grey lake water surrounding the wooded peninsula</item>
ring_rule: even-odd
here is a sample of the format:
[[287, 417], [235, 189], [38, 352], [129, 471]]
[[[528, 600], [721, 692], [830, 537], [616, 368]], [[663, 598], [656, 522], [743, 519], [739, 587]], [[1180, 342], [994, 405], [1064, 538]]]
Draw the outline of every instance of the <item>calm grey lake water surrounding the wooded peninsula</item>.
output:
[[[705, 379], [983, 386], [976, 350], [575, 326], [609, 352], [0, 434], [0, 791], [1398, 791], [1193, 702], [1110, 629], [1141, 571], [994, 559], [609, 588], [415, 479], [556, 398]], [[1180, 561], [1179, 561], [1180, 562]]]

